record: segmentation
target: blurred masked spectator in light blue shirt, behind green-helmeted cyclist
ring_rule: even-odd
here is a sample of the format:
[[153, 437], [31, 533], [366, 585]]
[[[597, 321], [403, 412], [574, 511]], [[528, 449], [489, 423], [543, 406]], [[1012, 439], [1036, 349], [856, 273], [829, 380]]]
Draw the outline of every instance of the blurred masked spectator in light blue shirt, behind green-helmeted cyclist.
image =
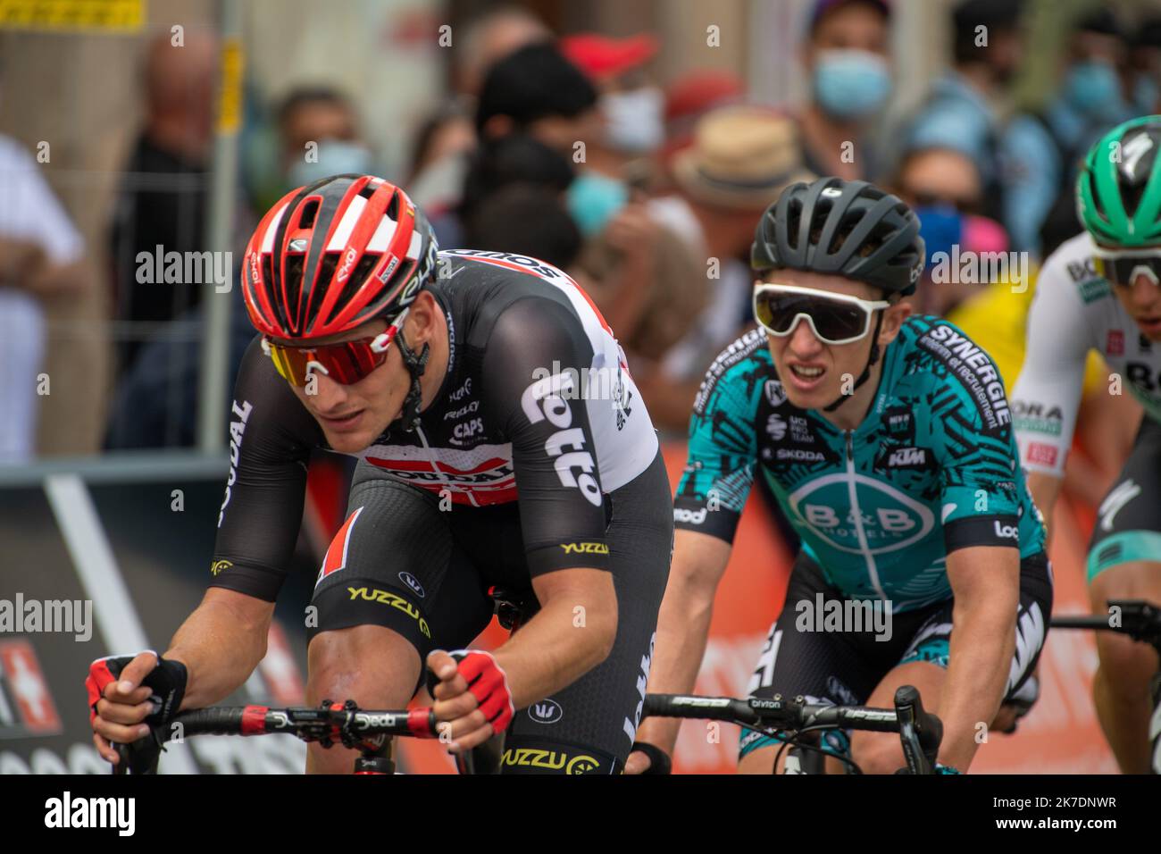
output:
[[1046, 258], [1076, 234], [1074, 184], [1089, 148], [1133, 115], [1128, 44], [1099, 9], [1073, 33], [1057, 94], [1012, 117], [1003, 138], [1004, 222], [1012, 245]]

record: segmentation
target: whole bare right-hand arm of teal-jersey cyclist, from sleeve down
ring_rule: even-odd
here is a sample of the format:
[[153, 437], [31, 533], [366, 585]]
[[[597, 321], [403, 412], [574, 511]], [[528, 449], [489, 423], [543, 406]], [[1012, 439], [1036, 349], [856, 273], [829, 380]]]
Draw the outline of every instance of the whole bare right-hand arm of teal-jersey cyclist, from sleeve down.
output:
[[947, 555], [947, 580], [956, 597], [947, 679], [939, 698], [944, 723], [939, 761], [967, 770], [1003, 699], [1016, 651], [1019, 550], [971, 546]]

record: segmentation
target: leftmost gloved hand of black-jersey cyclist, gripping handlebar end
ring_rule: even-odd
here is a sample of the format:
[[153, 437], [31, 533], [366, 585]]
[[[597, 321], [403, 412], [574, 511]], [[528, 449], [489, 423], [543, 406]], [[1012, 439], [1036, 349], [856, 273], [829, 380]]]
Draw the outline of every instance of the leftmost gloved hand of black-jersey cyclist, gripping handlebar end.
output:
[[[118, 758], [110, 741], [131, 744], [147, 735], [149, 724], [164, 723], [181, 705], [185, 666], [165, 661], [165, 667], [158, 672], [159, 662], [161, 658], [146, 650], [135, 656], [115, 655], [89, 665], [85, 688], [93, 744], [113, 765]], [[146, 718], [151, 719], [146, 723]]]

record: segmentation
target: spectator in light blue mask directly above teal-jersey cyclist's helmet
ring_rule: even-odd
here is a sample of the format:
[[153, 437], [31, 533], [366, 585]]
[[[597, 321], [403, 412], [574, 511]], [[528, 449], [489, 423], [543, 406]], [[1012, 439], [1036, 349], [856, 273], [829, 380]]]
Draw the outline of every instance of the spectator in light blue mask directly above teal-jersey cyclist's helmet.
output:
[[[884, 0], [815, 2], [802, 53], [810, 100], [799, 117], [812, 172], [846, 180], [875, 174], [867, 131], [890, 96], [889, 24]], [[844, 156], [850, 142], [853, 157]]]

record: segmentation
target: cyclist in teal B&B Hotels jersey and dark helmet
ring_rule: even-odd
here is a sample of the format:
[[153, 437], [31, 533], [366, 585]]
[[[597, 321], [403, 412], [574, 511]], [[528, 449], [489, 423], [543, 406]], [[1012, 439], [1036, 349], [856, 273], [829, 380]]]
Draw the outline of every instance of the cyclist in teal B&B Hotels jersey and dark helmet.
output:
[[[889, 706], [914, 684], [954, 772], [1002, 703], [1034, 699], [1052, 569], [1000, 373], [901, 301], [923, 263], [915, 214], [865, 181], [796, 184], [763, 215], [759, 329], [717, 357], [694, 402], [649, 690], [693, 688], [757, 472], [802, 547], [750, 694]], [[663, 772], [676, 738], [676, 722], [648, 719], [628, 770]], [[770, 773], [779, 742], [743, 731], [740, 747], [741, 772]], [[824, 748], [871, 773], [904, 763], [889, 733]]]

